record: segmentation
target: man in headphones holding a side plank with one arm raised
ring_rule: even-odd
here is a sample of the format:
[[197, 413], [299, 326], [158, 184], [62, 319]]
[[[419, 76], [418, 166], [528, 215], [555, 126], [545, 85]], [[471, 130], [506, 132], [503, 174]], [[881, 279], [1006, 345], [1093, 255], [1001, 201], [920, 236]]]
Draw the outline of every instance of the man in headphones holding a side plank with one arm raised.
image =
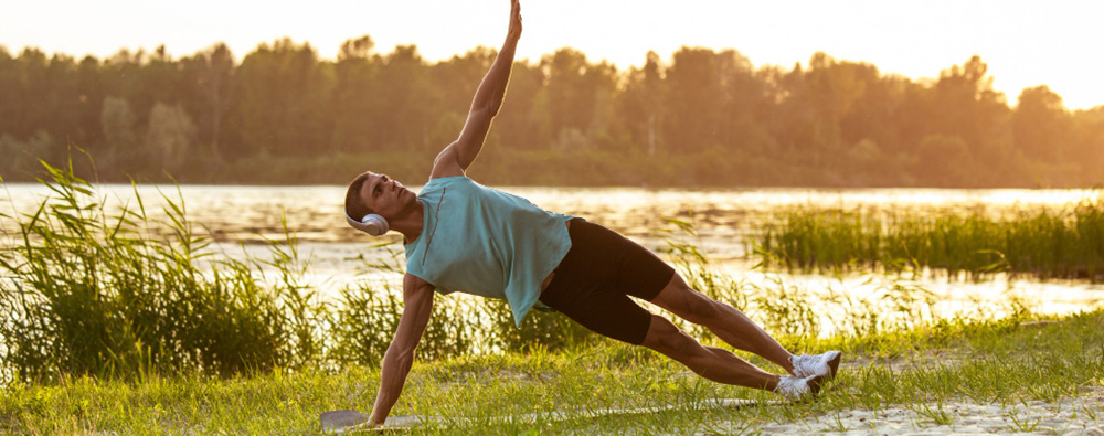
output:
[[[506, 43], [476, 92], [459, 138], [437, 155], [421, 193], [374, 172], [360, 174], [349, 185], [349, 223], [376, 236], [397, 231], [406, 247], [403, 313], [383, 357], [371, 422], [382, 425], [399, 398], [435, 289], [506, 299], [518, 323], [540, 300], [595, 332], [656, 350], [709, 380], [794, 400], [816, 395], [821, 383], [835, 376], [838, 351], [793, 355], [739, 310], [691, 289], [638, 244], [465, 176], [502, 105], [520, 36], [521, 7], [511, 0]], [[629, 296], [705, 326], [730, 345], [762, 355], [793, 375], [771, 374], [728, 350], [703, 347]]]

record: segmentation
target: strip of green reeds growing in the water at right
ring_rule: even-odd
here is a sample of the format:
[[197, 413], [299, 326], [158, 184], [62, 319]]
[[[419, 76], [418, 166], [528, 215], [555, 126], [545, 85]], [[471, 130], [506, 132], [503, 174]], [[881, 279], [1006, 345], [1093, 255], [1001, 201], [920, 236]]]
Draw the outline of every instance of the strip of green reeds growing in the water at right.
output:
[[761, 262], [790, 270], [932, 268], [952, 277], [1008, 272], [1104, 281], [1104, 196], [1005, 217], [797, 209], [753, 240]]

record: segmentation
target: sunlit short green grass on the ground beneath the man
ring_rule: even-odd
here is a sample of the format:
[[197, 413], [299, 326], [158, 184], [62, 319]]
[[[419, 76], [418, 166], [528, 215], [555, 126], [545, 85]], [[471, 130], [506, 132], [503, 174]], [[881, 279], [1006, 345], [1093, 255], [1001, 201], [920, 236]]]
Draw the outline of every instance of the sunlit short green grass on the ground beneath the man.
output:
[[[847, 357], [838, 387], [814, 404], [696, 408], [703, 398], [772, 396], [705, 382], [649, 351], [601, 341], [558, 353], [534, 350], [418, 362], [394, 414], [442, 419], [416, 427], [420, 434], [753, 434], [789, 423], [831, 423], [851, 411], [877, 415], [901, 406], [924, 425], [954, 426], [969, 417], [953, 411], [952, 402], [996, 404], [1016, 417], [1020, 404], [1043, 401], [1060, 408], [1063, 398], [1104, 390], [1104, 312], [1023, 321], [947, 321], [805, 341], [807, 350], [841, 348]], [[51, 385], [15, 383], [0, 398], [0, 432], [318, 434], [320, 412], [369, 410], [378, 381], [374, 366], [350, 366], [229, 380], [73, 377]], [[1087, 404], [1075, 413], [1093, 419], [1104, 415], [1100, 402]], [[672, 408], [598, 418], [586, 413], [656, 405]], [[500, 421], [550, 411], [564, 412], [565, 417]], [[1038, 418], [1019, 416], [1006, 432], [1038, 424]]]

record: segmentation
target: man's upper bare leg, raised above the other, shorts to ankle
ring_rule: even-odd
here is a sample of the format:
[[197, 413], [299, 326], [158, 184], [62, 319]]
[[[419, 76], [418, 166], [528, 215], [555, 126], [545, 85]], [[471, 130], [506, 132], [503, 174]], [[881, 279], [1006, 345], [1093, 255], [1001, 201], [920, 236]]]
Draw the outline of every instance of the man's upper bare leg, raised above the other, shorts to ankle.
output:
[[690, 288], [678, 274], [671, 277], [670, 283], [651, 299], [651, 302], [687, 321], [705, 326], [713, 334], [736, 349], [762, 355], [786, 371], [794, 372], [794, 365], [790, 363], [793, 354], [763, 328], [732, 306]]

